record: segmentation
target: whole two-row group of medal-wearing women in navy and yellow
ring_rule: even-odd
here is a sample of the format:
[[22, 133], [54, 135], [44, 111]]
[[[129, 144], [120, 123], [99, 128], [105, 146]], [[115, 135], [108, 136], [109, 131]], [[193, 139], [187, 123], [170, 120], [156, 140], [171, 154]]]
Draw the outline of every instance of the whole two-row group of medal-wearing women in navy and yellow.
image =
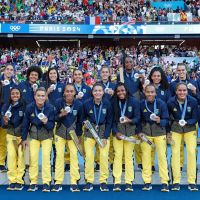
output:
[[[112, 83], [109, 67], [102, 66], [101, 81], [92, 88], [83, 82], [79, 69], [73, 72], [73, 83], [66, 84], [59, 81], [56, 68], [48, 70], [45, 82], [40, 81], [39, 67], [30, 67], [27, 80], [19, 84], [13, 80], [14, 73], [14, 67], [8, 64], [0, 82], [0, 171], [7, 171], [7, 190], [24, 188], [27, 157], [24, 154], [30, 158], [28, 191], [38, 190], [38, 157], [42, 148], [42, 191], [62, 190], [66, 160], [70, 165], [70, 190], [80, 191], [77, 148], [80, 146], [84, 151], [86, 184], [83, 191], [93, 190], [95, 161], [100, 168], [102, 192], [109, 191], [109, 164], [114, 177], [113, 191], [121, 191], [123, 170], [125, 191], [133, 191], [134, 154], [142, 169], [142, 190], [151, 190], [155, 151], [161, 191], [169, 191], [170, 179], [171, 190], [179, 191], [184, 143], [188, 189], [198, 190], [196, 149], [200, 84], [188, 78], [184, 64], [178, 64], [178, 78], [170, 84], [159, 67], [151, 70], [147, 84], [144, 75], [134, 70], [132, 57], [125, 58], [123, 82], [119, 76], [117, 83]], [[73, 134], [77, 136], [76, 142]], [[169, 177], [167, 143], [171, 144], [172, 177]], [[55, 161], [53, 185], [52, 156]]]

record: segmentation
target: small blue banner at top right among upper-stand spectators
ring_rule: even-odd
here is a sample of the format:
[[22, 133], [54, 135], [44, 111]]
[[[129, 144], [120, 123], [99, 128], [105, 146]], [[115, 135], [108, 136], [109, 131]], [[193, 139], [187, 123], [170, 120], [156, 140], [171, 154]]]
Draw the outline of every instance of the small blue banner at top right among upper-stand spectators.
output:
[[163, 1], [163, 2], [151, 2], [152, 7], [157, 9], [173, 9], [177, 8], [184, 10], [184, 1]]

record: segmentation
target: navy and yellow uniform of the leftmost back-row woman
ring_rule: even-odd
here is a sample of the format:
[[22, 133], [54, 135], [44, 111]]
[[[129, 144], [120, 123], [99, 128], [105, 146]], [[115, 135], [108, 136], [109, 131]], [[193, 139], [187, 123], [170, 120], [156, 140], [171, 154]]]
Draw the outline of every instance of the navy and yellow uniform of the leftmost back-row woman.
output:
[[[1, 76], [0, 81], [4, 82], [4, 75]], [[9, 99], [10, 89], [14, 87], [16, 84], [13, 79], [10, 79], [8, 84], [2, 85], [2, 97], [1, 97], [1, 105], [2, 108], [3, 103], [6, 103]], [[5, 166], [6, 160], [6, 130], [0, 127], [0, 166]], [[1, 171], [1, 167], [0, 167]]]

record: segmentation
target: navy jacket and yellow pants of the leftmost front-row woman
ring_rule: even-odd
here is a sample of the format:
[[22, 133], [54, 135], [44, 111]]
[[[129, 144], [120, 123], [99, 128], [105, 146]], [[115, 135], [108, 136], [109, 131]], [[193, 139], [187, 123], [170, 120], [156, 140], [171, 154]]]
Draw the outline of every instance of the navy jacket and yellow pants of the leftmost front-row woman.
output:
[[[8, 124], [5, 125], [3, 117], [9, 111], [12, 113]], [[25, 173], [24, 154], [21, 146], [21, 127], [24, 117], [25, 106], [19, 101], [15, 104], [4, 104], [1, 111], [2, 127], [6, 128], [7, 135], [7, 163], [8, 163], [8, 190], [22, 190], [24, 185], [23, 176]]]

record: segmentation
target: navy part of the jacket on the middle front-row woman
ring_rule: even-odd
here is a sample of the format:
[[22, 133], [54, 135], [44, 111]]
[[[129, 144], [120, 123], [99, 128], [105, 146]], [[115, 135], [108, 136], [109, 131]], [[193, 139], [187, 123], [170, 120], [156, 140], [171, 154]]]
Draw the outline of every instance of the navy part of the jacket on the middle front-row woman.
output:
[[[96, 124], [94, 115], [94, 106], [96, 106], [97, 116], [98, 116], [100, 105], [96, 105], [94, 103], [93, 97], [84, 102], [83, 112], [84, 112], [84, 120], [89, 120], [91, 123]], [[103, 99], [99, 125], [105, 124], [104, 137], [106, 139], [110, 136], [112, 120], [113, 120], [113, 110], [111, 103], [107, 99]]]

